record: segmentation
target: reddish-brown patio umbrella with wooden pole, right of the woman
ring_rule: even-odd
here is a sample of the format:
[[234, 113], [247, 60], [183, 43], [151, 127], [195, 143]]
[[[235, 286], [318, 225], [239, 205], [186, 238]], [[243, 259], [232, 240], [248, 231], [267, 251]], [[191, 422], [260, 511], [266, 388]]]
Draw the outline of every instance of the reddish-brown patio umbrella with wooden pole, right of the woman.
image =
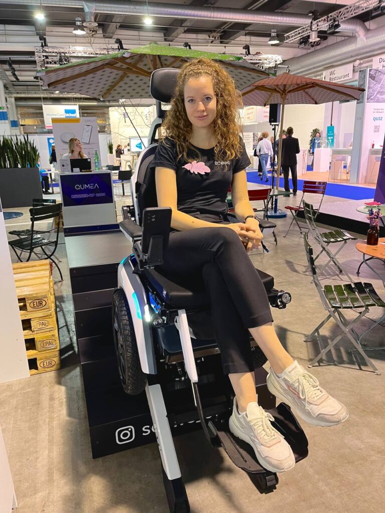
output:
[[[326, 82], [317, 78], [282, 73], [281, 75], [265, 78], [242, 91], [244, 105], [271, 105], [280, 103], [281, 128], [279, 131], [279, 151], [277, 170], [281, 169], [283, 116], [285, 105], [339, 102], [340, 100], [359, 100], [364, 91], [361, 87]], [[279, 171], [278, 171], [279, 172]], [[278, 180], [276, 181], [278, 183]], [[278, 184], [276, 188], [278, 189]]]

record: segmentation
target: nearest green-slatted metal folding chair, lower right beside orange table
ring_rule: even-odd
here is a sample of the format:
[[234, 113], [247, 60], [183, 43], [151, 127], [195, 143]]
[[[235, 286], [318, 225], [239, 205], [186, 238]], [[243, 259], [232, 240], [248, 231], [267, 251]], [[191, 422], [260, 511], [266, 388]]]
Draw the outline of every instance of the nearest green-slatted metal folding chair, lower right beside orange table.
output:
[[[317, 292], [319, 293], [324, 309], [328, 311], [328, 316], [310, 333], [310, 335], [308, 335], [304, 339], [305, 342], [310, 342], [314, 335], [317, 334], [318, 344], [321, 349], [321, 352], [312, 362], [310, 362], [308, 367], [312, 367], [328, 351], [330, 351], [332, 347], [335, 346], [335, 344], [340, 339], [342, 339], [343, 336], [347, 336], [355, 348], [353, 350], [350, 350], [349, 352], [352, 353], [353, 351], [358, 351], [365, 360], [365, 362], [374, 370], [374, 372], [380, 375], [381, 372], [368, 358], [367, 354], [365, 354], [365, 350], [378, 350], [379, 348], [364, 348], [362, 347], [362, 345], [364, 345], [364, 342], [361, 342], [361, 339], [365, 333], [373, 329], [374, 326], [379, 324], [385, 318], [385, 314], [383, 314], [382, 317], [378, 319], [378, 321], [376, 321], [369, 329], [365, 330], [361, 334], [361, 336], [358, 336], [358, 333], [355, 331], [354, 328], [356, 327], [357, 323], [359, 323], [359, 321], [364, 317], [364, 315], [366, 315], [369, 312], [371, 307], [375, 306], [385, 308], [385, 303], [381, 300], [381, 298], [374, 290], [374, 287], [371, 283], [355, 282], [347, 283], [344, 285], [322, 286], [317, 275], [317, 270], [313, 257], [313, 248], [309, 244], [307, 233], [303, 235], [303, 239], [305, 244], [307, 262], [309, 263], [309, 267], [312, 271], [314, 285], [316, 286]], [[357, 317], [353, 321], [348, 321], [348, 319], [345, 318], [345, 316], [342, 313], [342, 310], [345, 309], [355, 311], [356, 313], [358, 313], [357, 310], [361, 310], [361, 312], [358, 313]], [[322, 349], [319, 330], [332, 318], [341, 328], [342, 333], [337, 335], [337, 337], [335, 337], [328, 346]], [[385, 349], [385, 347], [381, 347], [380, 349]]]

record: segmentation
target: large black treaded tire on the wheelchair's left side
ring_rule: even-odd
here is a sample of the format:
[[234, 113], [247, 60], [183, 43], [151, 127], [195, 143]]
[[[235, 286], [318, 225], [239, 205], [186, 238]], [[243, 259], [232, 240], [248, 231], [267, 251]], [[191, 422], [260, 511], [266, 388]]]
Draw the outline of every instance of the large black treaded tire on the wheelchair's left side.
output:
[[137, 339], [123, 289], [113, 292], [112, 327], [123, 389], [130, 396], [137, 396], [143, 392], [147, 378], [140, 365]]

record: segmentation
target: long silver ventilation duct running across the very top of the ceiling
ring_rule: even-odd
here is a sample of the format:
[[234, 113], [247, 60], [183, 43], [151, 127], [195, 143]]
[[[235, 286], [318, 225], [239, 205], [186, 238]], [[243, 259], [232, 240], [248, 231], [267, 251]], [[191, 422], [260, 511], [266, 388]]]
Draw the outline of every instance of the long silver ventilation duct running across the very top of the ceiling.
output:
[[[0, 0], [0, 4], [7, 0]], [[25, 0], [12, 0], [15, 5], [25, 5]], [[29, 0], [29, 5], [36, 6], [63, 6], [63, 0]], [[88, 2], [80, 0], [67, 0], [66, 7], [83, 8]], [[95, 2], [90, 3], [93, 10], [102, 14], [126, 14], [130, 16], [160, 16], [176, 19], [204, 19], [218, 22], [259, 23], [262, 25], [288, 25], [301, 27], [309, 24], [309, 16], [306, 14], [290, 14], [281, 12], [251, 11], [247, 9], [229, 9], [209, 6], [191, 6], [178, 4], [156, 4], [145, 2]], [[85, 9], [85, 8], [84, 8]], [[348, 19], [341, 22], [341, 31], [354, 32], [362, 36], [368, 29], [358, 19]]]

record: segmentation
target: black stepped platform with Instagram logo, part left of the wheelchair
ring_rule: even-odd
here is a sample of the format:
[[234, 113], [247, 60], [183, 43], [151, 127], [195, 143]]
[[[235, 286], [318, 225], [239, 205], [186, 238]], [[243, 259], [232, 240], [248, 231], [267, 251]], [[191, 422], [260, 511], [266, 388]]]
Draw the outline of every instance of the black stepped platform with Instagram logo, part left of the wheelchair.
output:
[[154, 442], [145, 393], [123, 391], [112, 337], [112, 293], [131, 251], [120, 231], [65, 237], [93, 458]]

